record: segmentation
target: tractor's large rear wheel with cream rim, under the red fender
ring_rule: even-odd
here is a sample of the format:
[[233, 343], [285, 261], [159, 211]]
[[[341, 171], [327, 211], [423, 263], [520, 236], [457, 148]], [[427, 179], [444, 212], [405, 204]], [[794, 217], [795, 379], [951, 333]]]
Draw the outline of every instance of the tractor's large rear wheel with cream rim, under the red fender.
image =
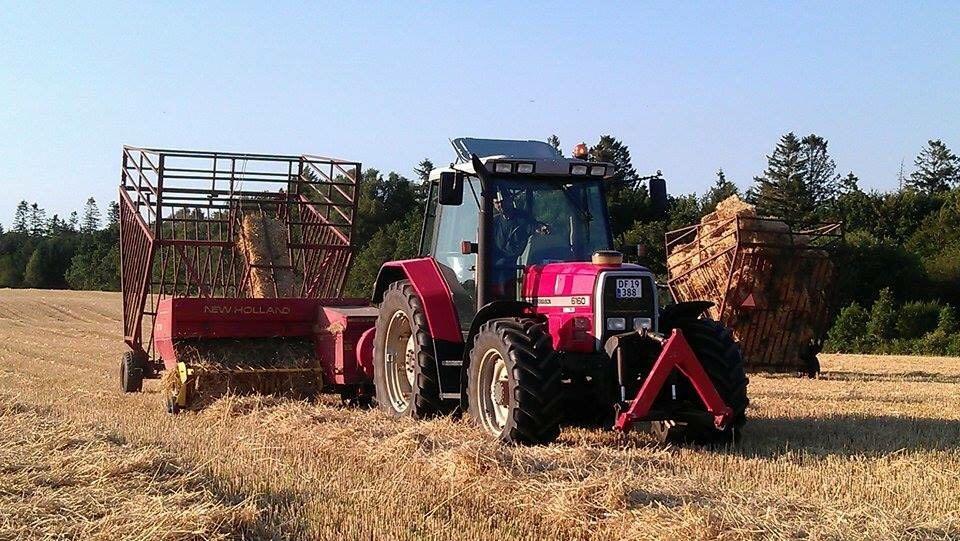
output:
[[380, 303], [373, 340], [376, 400], [395, 417], [443, 412], [433, 337], [423, 303], [408, 280], [390, 284]]

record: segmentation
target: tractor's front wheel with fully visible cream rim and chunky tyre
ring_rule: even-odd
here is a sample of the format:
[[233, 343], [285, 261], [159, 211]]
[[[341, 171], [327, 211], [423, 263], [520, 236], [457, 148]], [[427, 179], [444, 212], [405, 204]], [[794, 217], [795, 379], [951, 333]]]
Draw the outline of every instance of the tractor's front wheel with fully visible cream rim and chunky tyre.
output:
[[470, 350], [470, 415], [507, 443], [549, 443], [560, 434], [560, 364], [544, 324], [532, 318], [494, 319], [480, 327]]

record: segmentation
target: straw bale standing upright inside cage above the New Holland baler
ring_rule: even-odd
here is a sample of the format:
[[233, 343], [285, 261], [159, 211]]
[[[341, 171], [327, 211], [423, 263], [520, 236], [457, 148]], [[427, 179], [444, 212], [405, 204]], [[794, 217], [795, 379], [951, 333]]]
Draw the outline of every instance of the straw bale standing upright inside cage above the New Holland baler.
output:
[[237, 245], [250, 265], [251, 297], [292, 297], [300, 291], [301, 280], [290, 262], [283, 220], [263, 211], [244, 213]]

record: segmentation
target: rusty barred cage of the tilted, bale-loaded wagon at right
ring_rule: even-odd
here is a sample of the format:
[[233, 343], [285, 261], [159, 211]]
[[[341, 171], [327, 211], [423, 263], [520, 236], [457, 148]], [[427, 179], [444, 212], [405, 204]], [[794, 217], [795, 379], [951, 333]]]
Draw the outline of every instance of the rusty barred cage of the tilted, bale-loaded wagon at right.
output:
[[[787, 231], [777, 230], [774, 226], [777, 224], [782, 227], [784, 223], [787, 222], [775, 218], [735, 216], [669, 231], [665, 235], [668, 258], [681, 246], [688, 246], [692, 242], [697, 246], [687, 258], [668, 263], [667, 284], [671, 294], [678, 301], [713, 301], [715, 305], [709, 314], [737, 331], [746, 365], [754, 370], [808, 371], [811, 367], [798, 364], [796, 359], [811, 365], [815, 363], [834, 308], [832, 299], [835, 297], [837, 280], [831, 258], [843, 239], [843, 225], [817, 223], [799, 229], [797, 224], [787, 223]], [[723, 233], [717, 236], [704, 235], [705, 227]], [[772, 242], [771, 238], [774, 239]], [[698, 264], [675, 274], [675, 269], [685, 267], [697, 257]], [[747, 303], [745, 299], [734, 298], [741, 288], [733, 287], [737, 285], [733, 282], [744, 268], [759, 270], [752, 274], [745, 288], [748, 291], [761, 285], [757, 283], [758, 276], [784, 269], [803, 269], [807, 272], [790, 272], [787, 285], [817, 292], [819, 300], [814, 303], [809, 296], [796, 296], [788, 299], [786, 306], [751, 306], [749, 317], [742, 318], [740, 316], [747, 310]], [[701, 275], [701, 279], [693, 279], [697, 274]], [[704, 284], [725, 286], [713, 288]], [[801, 314], [810, 314], [804, 316], [810, 319], [802, 324], [812, 329], [814, 340], [806, 351], [789, 351], [791, 345], [796, 343], [792, 335], [796, 332], [796, 318]], [[775, 340], [765, 340], [772, 333], [779, 335]], [[816, 367], [816, 370], [819, 368]]]

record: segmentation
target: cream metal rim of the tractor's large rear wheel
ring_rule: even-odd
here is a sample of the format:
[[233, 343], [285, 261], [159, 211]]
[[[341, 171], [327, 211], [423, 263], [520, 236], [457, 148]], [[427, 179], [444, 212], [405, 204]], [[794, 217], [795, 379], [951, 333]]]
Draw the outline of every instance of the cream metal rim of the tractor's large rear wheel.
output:
[[416, 340], [410, 320], [403, 310], [397, 310], [390, 316], [383, 361], [390, 407], [397, 413], [403, 413], [410, 407], [410, 398], [417, 381]]

